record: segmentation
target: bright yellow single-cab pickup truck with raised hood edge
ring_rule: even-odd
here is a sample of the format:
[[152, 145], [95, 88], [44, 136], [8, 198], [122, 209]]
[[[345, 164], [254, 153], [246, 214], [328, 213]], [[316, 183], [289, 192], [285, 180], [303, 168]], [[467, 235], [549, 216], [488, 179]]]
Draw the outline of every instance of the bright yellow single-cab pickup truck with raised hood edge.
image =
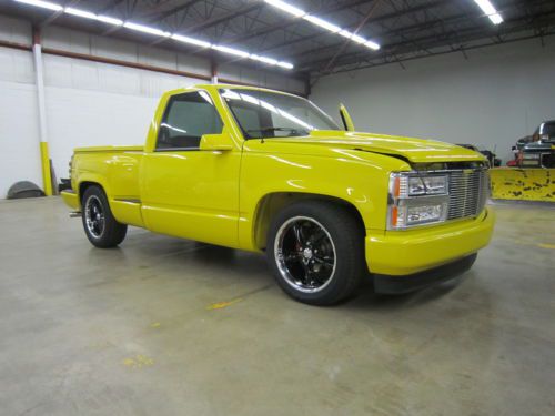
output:
[[[329, 305], [365, 276], [377, 292], [471, 266], [492, 235], [484, 156], [448, 143], [355, 132], [312, 102], [258, 88], [167, 92], [144, 146], [75, 149], [65, 203], [97, 247], [128, 225], [265, 253], [293, 298]], [[370, 272], [370, 273], [369, 273]]]

